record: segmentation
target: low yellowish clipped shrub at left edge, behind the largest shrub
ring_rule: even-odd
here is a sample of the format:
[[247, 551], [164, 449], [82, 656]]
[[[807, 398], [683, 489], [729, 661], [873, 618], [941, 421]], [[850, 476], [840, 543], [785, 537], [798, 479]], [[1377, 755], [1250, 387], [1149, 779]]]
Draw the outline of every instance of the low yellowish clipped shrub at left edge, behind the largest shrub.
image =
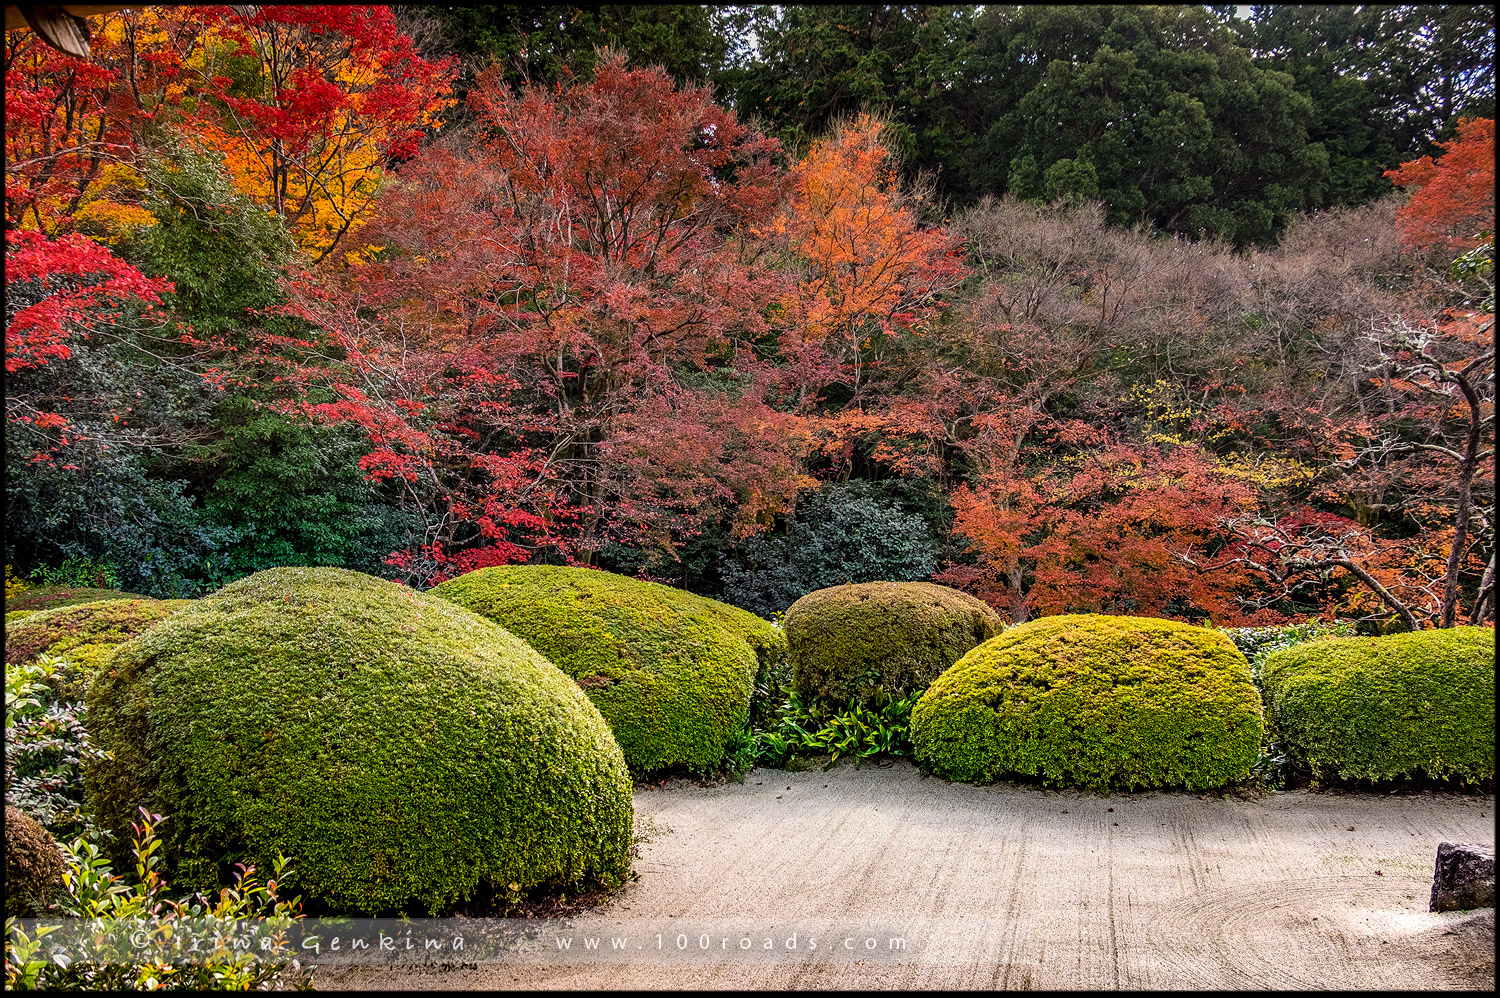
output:
[[72, 674], [63, 678], [57, 692], [63, 699], [80, 699], [87, 677], [117, 644], [190, 603], [186, 599], [111, 599], [33, 611], [6, 630], [4, 660], [20, 665], [42, 654], [68, 659]]

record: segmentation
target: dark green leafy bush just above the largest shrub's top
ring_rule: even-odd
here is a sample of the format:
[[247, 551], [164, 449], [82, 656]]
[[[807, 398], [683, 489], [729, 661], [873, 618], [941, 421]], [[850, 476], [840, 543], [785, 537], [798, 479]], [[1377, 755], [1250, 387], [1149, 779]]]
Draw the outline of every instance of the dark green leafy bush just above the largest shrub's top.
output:
[[358, 468], [368, 441], [246, 398], [225, 404], [219, 420], [224, 470], [204, 506], [238, 534], [225, 552], [226, 578], [285, 566], [381, 575], [384, 558], [411, 543], [418, 524]]

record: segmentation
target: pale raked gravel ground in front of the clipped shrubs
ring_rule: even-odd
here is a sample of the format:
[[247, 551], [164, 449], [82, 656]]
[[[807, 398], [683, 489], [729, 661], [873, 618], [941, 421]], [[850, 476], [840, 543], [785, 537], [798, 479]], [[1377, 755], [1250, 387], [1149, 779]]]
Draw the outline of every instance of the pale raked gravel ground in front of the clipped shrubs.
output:
[[[624, 954], [322, 968], [315, 983], [1488, 989], [1494, 911], [1426, 902], [1437, 843], [1492, 843], [1494, 813], [1478, 795], [1096, 795], [945, 783], [904, 762], [756, 770], [744, 785], [636, 792], [640, 879], [572, 926], [633, 939]], [[684, 926], [724, 939], [774, 929], [782, 947], [794, 921], [796, 953], [651, 953], [656, 933]], [[840, 951], [840, 938], [888, 941], [892, 926], [898, 954]]]

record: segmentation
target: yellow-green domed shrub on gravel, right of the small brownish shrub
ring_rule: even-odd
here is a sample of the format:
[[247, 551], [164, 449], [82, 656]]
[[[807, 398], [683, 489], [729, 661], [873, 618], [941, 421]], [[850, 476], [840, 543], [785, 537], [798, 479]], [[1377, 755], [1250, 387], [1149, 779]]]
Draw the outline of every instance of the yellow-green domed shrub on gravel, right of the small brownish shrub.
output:
[[1222, 633], [1173, 620], [1042, 617], [984, 642], [912, 708], [916, 759], [948, 779], [1185, 786], [1245, 777], [1260, 695]]

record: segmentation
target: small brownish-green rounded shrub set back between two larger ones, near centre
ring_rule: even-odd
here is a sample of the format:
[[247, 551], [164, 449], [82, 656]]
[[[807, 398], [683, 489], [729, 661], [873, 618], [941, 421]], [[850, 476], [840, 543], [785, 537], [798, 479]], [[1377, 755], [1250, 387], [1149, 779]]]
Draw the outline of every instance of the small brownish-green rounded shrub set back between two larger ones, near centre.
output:
[[808, 593], [786, 611], [792, 687], [807, 701], [920, 693], [1004, 630], [988, 603], [933, 582], [860, 582]]

